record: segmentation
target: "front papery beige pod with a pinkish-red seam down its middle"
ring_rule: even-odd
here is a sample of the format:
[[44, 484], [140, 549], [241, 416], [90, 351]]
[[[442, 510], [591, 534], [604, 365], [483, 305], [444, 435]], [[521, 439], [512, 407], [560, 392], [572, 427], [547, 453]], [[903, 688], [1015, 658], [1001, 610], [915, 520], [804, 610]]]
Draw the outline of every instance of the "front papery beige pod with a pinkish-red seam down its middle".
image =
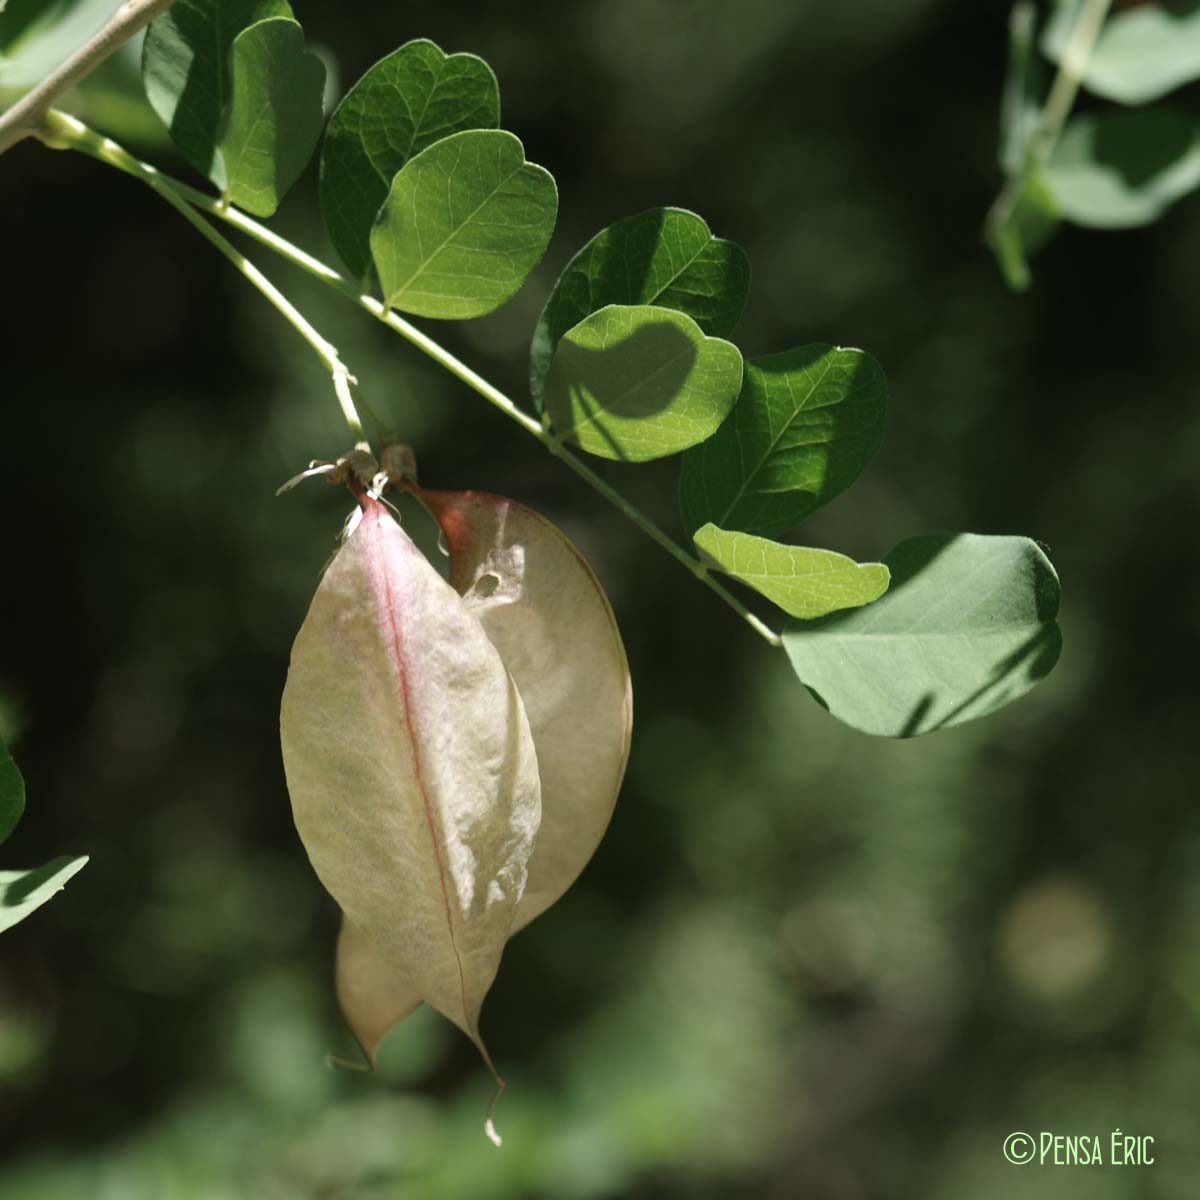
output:
[[540, 821], [533, 736], [478, 617], [383, 504], [361, 504], [283, 690], [296, 829], [359, 943], [491, 1068], [479, 1013]]

